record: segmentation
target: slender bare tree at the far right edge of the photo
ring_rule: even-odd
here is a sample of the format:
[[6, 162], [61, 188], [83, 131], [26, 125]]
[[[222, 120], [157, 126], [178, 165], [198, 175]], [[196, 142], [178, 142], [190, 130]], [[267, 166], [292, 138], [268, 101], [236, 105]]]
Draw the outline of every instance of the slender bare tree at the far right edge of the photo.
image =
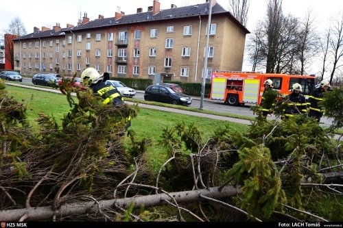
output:
[[330, 46], [333, 52], [333, 67], [330, 75], [330, 83], [332, 82], [335, 71], [341, 68], [340, 59], [343, 57], [343, 14], [332, 23], [332, 36]]

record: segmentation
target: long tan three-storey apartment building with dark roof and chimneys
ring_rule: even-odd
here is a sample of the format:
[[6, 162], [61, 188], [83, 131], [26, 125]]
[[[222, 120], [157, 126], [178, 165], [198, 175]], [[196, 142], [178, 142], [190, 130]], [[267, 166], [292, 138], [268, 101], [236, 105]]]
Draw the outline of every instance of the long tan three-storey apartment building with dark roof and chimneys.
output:
[[[200, 82], [203, 75], [209, 2], [161, 10], [158, 0], [143, 12], [78, 25], [58, 23], [53, 29], [34, 27], [14, 39], [14, 69], [23, 75], [81, 75], [87, 67], [113, 77], [137, 77]], [[250, 32], [230, 12], [213, 1], [206, 79], [211, 72], [241, 71], [246, 34]]]

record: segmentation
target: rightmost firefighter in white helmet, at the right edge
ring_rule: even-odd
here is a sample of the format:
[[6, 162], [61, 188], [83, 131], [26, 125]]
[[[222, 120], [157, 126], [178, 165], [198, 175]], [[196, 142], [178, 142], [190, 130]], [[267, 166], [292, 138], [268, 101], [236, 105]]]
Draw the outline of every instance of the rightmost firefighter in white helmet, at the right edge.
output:
[[326, 92], [330, 88], [330, 83], [327, 80], [323, 80], [320, 82], [319, 87], [314, 89], [309, 94], [309, 117], [316, 118], [317, 122], [320, 122], [320, 118], [324, 113], [324, 108], [318, 105], [319, 101], [323, 101], [323, 93]]

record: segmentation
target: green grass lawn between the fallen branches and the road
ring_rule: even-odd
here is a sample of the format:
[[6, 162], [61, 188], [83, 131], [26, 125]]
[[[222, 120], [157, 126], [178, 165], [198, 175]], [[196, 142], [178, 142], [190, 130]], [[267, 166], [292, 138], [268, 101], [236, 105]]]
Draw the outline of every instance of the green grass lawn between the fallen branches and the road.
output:
[[[8, 91], [8, 94], [13, 96], [17, 101], [23, 101], [23, 103], [27, 105], [27, 118], [33, 126], [37, 126], [36, 119], [40, 113], [54, 116], [56, 121], [60, 124], [64, 114], [67, 114], [71, 109], [67, 102], [67, 98], [63, 94], [29, 88], [19, 88], [16, 86], [6, 86], [6, 90]], [[137, 140], [143, 138], [152, 139], [153, 146], [150, 151], [148, 151], [152, 170], [158, 170], [161, 164], [166, 160], [165, 149], [161, 148], [158, 144], [163, 129], [166, 127], [174, 127], [177, 123], [182, 122], [186, 125], [194, 123], [203, 133], [204, 140], [209, 138], [215, 128], [220, 126], [229, 125], [230, 128], [236, 129], [237, 131], [246, 131], [246, 129], [248, 129], [247, 125], [238, 123], [139, 107], [137, 118], [132, 119], [132, 126], [130, 129], [136, 132]], [[130, 140], [128, 138], [126, 138], [126, 146], [130, 147]]]

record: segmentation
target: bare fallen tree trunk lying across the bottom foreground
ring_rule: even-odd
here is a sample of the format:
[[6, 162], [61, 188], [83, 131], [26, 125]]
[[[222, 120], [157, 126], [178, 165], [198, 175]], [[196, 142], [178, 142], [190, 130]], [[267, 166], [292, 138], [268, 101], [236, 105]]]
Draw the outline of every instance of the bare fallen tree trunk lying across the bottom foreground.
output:
[[[235, 194], [241, 193], [241, 190], [233, 186], [225, 186], [221, 191], [217, 187], [193, 190], [185, 192], [170, 192], [169, 195], [174, 197], [178, 203], [190, 203], [201, 201], [200, 194], [211, 197], [211, 198], [225, 198], [232, 197]], [[106, 201], [99, 201], [99, 208], [104, 210], [104, 208], [111, 208], [115, 203], [119, 207], [128, 208], [132, 203], [134, 203], [135, 208], [139, 208], [142, 205], [144, 207], [152, 207], [157, 205], [165, 204], [165, 201], [171, 201], [171, 197], [168, 194], [153, 194], [143, 197], [132, 197], [124, 199], [111, 199]], [[174, 203], [174, 202], [173, 202]], [[88, 201], [84, 203], [69, 203], [61, 205], [58, 210], [53, 210], [51, 206], [46, 207], [30, 207], [24, 209], [16, 210], [3, 210], [0, 212], [1, 221], [17, 221], [22, 216], [25, 215], [27, 220], [47, 220], [56, 216], [56, 218], [63, 218], [65, 216], [77, 216], [80, 214], [95, 214], [98, 212], [98, 205], [94, 201]]]

